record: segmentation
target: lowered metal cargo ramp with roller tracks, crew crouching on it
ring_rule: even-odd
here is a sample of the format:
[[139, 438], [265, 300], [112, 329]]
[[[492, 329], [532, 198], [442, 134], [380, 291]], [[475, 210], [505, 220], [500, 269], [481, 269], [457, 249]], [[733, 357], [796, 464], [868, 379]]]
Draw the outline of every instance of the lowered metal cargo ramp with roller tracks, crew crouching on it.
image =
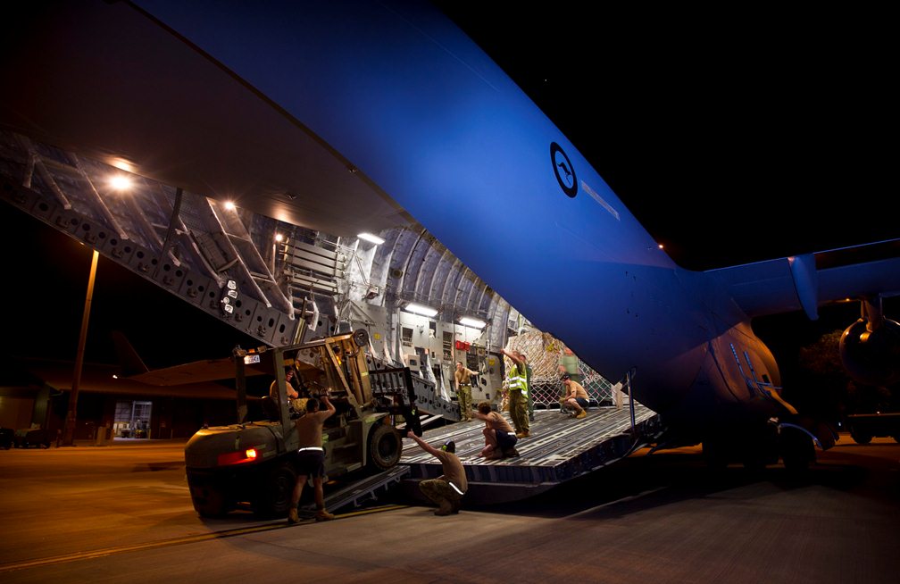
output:
[[[504, 412], [509, 420], [509, 413]], [[511, 424], [511, 422], [510, 422]], [[459, 422], [434, 430], [422, 437], [439, 447], [447, 440], [456, 443], [456, 454], [463, 462], [469, 490], [465, 502], [476, 505], [527, 499], [554, 486], [614, 463], [636, 449], [653, 442], [659, 431], [659, 416], [652, 409], [635, 404], [635, 426], [626, 407], [591, 408], [587, 418], [570, 418], [558, 409], [535, 411], [531, 436], [519, 438], [519, 456], [485, 460], [484, 422]], [[404, 438], [399, 465], [410, 468], [401, 481], [401, 489], [421, 499], [418, 482], [441, 474], [441, 465], [419, 445]]]

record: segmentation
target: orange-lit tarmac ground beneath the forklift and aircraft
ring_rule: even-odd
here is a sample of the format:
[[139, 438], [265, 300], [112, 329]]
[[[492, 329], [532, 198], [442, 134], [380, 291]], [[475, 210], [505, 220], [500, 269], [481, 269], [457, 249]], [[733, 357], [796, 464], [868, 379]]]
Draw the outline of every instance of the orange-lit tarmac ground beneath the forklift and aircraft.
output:
[[866, 582], [900, 574], [900, 445], [842, 435], [802, 476], [637, 453], [534, 498], [435, 517], [203, 519], [183, 442], [0, 451], [4, 582]]

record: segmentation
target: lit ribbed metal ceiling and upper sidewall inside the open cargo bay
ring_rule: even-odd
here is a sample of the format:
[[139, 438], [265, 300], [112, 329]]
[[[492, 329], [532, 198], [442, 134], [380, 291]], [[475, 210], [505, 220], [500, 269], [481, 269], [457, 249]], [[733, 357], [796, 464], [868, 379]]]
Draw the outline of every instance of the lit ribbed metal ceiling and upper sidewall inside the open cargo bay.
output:
[[[392, 331], [410, 302], [451, 322], [489, 321], [494, 346], [518, 328], [518, 312], [414, 222], [377, 231], [380, 245], [339, 237], [6, 130], [0, 175], [4, 202], [270, 346], [358, 326]], [[369, 306], [387, 319], [371, 321]]]

